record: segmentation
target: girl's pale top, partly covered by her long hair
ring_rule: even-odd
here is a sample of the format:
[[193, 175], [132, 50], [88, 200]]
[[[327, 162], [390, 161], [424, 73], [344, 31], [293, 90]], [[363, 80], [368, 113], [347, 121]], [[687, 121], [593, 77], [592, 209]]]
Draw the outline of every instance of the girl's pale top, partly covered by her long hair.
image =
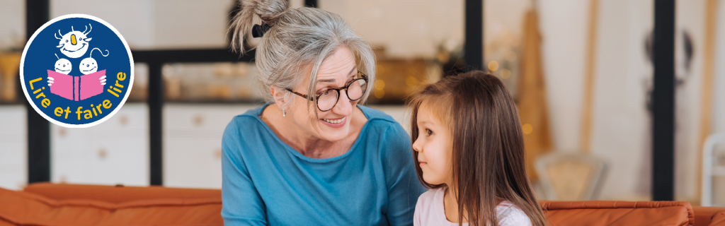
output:
[[[445, 225], [453, 226], [457, 223], [450, 222], [446, 219], [446, 213], [443, 209], [444, 188], [438, 188], [423, 193], [418, 198], [418, 204], [415, 204], [415, 215], [413, 217], [413, 225]], [[502, 201], [496, 206], [496, 218], [500, 226], [531, 226], [531, 219], [526, 216], [521, 209], [510, 201]], [[468, 225], [468, 223], [463, 223]]]

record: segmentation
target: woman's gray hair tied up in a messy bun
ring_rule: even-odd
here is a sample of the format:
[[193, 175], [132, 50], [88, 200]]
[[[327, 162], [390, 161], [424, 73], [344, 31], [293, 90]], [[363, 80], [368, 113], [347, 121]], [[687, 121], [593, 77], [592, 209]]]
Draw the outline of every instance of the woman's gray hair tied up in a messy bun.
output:
[[[316, 93], [314, 81], [320, 64], [341, 46], [347, 46], [355, 56], [357, 70], [368, 75], [368, 83], [374, 83], [373, 49], [339, 15], [308, 7], [289, 9], [286, 0], [242, 0], [240, 5], [241, 10], [229, 27], [233, 33], [232, 49], [248, 51], [244, 49], [244, 38], [249, 37], [255, 18], [271, 26], [260, 39], [255, 56], [267, 101], [274, 101], [269, 92], [273, 85], [293, 89], [304, 79], [310, 81], [307, 93]], [[310, 78], [304, 78], [305, 70], [310, 69]], [[361, 104], [368, 99], [372, 88], [373, 84], [369, 84]], [[294, 103], [294, 94], [280, 91], [285, 93], [283, 108], [287, 109]], [[315, 95], [307, 96], [314, 101]]]

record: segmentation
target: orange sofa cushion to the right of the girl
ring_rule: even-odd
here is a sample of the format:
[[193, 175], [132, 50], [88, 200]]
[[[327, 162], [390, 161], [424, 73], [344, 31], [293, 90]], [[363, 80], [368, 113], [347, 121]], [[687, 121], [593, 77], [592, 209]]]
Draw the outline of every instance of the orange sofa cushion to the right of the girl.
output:
[[551, 225], [695, 225], [686, 201], [542, 201]]

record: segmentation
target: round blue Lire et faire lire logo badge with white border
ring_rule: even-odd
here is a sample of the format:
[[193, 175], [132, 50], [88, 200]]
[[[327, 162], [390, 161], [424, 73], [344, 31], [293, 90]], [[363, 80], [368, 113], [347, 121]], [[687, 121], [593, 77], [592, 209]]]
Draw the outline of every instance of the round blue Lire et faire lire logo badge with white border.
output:
[[33, 109], [63, 127], [91, 127], [113, 116], [133, 85], [133, 56], [118, 30], [98, 17], [67, 14], [33, 33], [20, 61]]

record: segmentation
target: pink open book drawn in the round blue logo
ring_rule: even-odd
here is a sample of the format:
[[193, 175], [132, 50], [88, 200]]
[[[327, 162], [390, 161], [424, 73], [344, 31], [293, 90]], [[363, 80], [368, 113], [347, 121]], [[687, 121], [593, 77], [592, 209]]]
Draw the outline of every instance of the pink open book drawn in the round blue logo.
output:
[[80, 101], [103, 93], [100, 78], [106, 75], [106, 70], [93, 72], [88, 75], [72, 76], [48, 70], [48, 77], [53, 78], [50, 92], [65, 99]]

